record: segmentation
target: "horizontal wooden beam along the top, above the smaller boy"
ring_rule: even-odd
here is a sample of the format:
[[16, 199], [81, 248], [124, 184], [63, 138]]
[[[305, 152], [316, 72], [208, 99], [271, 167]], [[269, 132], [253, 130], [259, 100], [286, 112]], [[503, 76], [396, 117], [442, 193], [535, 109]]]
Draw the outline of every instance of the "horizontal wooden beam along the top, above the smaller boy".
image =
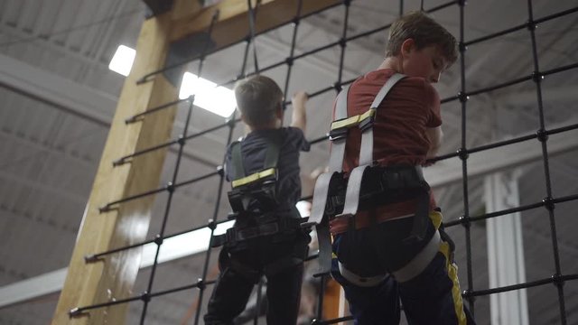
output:
[[[256, 3], [252, 0], [253, 4]], [[217, 48], [242, 41], [249, 33], [247, 0], [223, 0], [218, 5], [212, 5], [200, 11], [195, 11], [195, 5], [190, 0], [177, 0], [172, 19], [173, 28], [171, 41], [197, 32], [204, 32], [210, 25], [215, 11], [219, 11], [219, 19], [213, 28], [211, 38]], [[334, 5], [340, 5], [342, 0], [303, 0], [301, 15], [312, 14]], [[298, 0], [261, 0], [256, 14], [255, 32], [264, 32], [291, 22], [297, 14]]]

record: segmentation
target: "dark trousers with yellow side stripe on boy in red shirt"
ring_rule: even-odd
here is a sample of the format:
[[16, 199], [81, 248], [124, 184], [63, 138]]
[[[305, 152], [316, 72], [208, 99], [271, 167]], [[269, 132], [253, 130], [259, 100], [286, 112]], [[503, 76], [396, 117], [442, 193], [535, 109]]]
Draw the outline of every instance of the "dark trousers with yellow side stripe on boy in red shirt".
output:
[[[355, 274], [375, 276], [396, 271], [433, 236], [432, 224], [424, 243], [403, 243], [412, 222], [413, 218], [402, 218], [337, 235], [333, 252], [340, 263]], [[470, 312], [463, 306], [457, 267], [452, 263], [451, 248], [445, 241], [424, 271], [404, 283], [388, 275], [376, 286], [354, 285], [340, 274], [338, 259], [333, 260], [331, 274], [343, 286], [356, 324], [398, 324], [400, 300], [410, 325], [474, 324]]]

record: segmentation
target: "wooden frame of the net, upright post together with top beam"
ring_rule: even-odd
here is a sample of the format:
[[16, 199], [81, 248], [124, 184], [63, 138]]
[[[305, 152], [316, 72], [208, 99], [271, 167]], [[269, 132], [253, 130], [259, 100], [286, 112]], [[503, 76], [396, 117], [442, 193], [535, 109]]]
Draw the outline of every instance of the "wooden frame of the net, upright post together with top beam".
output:
[[[297, 3], [297, 0], [263, 0], [256, 32], [290, 22], [296, 13]], [[217, 48], [238, 42], [248, 34], [246, 0], [223, 0], [208, 8], [195, 4], [191, 0], [175, 0], [172, 11], [148, 19], [143, 24], [136, 46], [135, 64], [118, 100], [117, 112], [70, 259], [69, 273], [51, 322], [53, 325], [125, 322], [126, 303], [94, 309], [73, 318], [70, 318], [69, 311], [129, 297], [138, 273], [140, 248], [109, 255], [97, 262], [86, 263], [84, 260], [86, 255], [144, 241], [148, 230], [153, 196], [122, 203], [117, 209], [105, 213], [98, 210], [109, 202], [159, 186], [166, 150], [146, 153], [117, 167], [112, 165], [118, 158], [161, 144], [171, 135], [175, 107], [145, 116], [136, 123], [125, 124], [126, 117], [171, 102], [178, 95], [178, 89], [163, 74], [141, 85], [137, 85], [136, 80], [163, 68], [171, 42], [196, 32], [205, 32], [215, 10], [219, 10], [220, 14], [211, 38]], [[340, 0], [303, 1], [302, 13], [309, 14], [338, 4]]]

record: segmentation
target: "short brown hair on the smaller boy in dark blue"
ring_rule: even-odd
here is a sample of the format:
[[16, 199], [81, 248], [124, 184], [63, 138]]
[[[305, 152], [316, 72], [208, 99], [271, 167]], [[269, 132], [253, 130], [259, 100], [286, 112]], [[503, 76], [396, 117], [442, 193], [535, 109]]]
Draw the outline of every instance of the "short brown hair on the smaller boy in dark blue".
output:
[[283, 91], [275, 80], [254, 76], [238, 81], [235, 98], [245, 122], [251, 126], [261, 126], [275, 120], [276, 110], [282, 105]]

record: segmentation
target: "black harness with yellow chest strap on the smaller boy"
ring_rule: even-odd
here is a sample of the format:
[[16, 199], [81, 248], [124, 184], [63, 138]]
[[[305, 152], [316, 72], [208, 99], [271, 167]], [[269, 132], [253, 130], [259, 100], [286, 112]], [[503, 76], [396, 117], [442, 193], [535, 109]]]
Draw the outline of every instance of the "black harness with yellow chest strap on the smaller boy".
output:
[[[263, 169], [246, 175], [241, 156], [241, 142], [231, 144], [232, 189], [228, 191], [228, 201], [233, 212], [229, 219], [236, 219], [238, 225], [229, 228], [223, 235], [214, 236], [211, 246], [237, 246], [247, 239], [289, 233], [299, 229], [302, 218], [279, 218], [277, 200], [277, 162], [282, 145], [280, 132], [272, 133], [266, 139], [266, 158]], [[294, 207], [293, 207], [294, 208]], [[298, 212], [294, 210], [296, 214]], [[294, 216], [297, 217], [297, 216]]]

